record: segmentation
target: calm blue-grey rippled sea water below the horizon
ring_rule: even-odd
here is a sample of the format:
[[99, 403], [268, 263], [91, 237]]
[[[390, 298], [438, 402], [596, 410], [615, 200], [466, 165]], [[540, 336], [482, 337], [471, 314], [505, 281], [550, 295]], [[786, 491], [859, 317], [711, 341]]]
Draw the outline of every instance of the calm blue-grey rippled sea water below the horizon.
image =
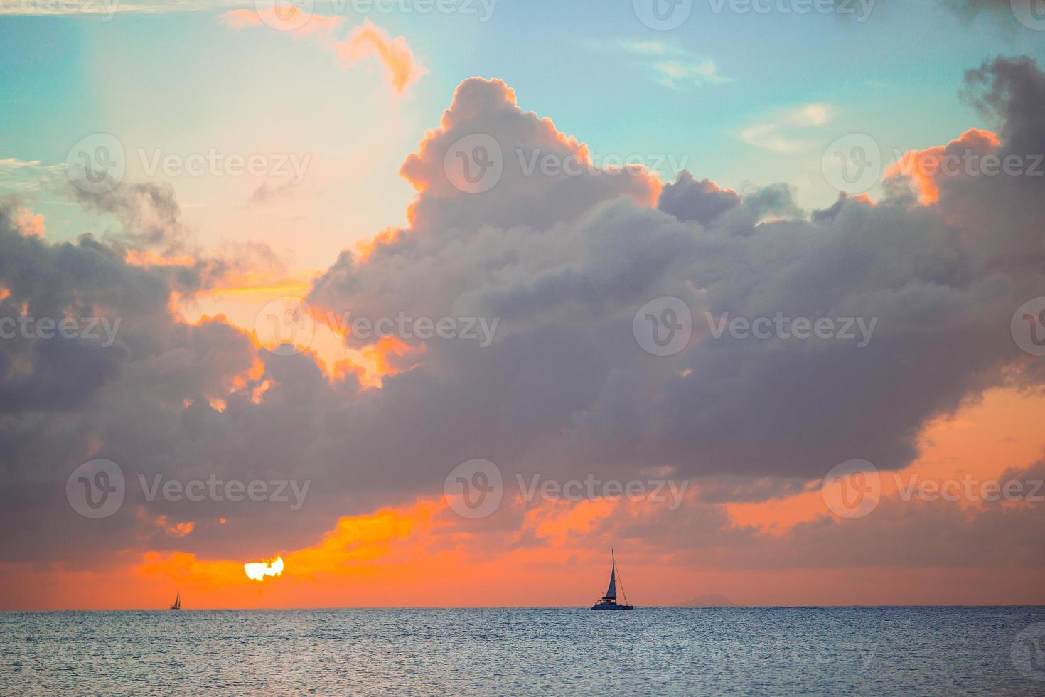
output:
[[1045, 695], [1045, 608], [0, 612], [0, 693]]

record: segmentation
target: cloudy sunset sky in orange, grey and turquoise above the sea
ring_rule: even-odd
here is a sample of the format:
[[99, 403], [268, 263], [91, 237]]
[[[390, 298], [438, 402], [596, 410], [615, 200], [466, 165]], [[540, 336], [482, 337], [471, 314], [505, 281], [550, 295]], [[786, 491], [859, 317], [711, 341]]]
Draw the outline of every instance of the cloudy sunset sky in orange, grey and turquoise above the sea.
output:
[[0, 609], [1045, 603], [1035, 7], [0, 0]]

